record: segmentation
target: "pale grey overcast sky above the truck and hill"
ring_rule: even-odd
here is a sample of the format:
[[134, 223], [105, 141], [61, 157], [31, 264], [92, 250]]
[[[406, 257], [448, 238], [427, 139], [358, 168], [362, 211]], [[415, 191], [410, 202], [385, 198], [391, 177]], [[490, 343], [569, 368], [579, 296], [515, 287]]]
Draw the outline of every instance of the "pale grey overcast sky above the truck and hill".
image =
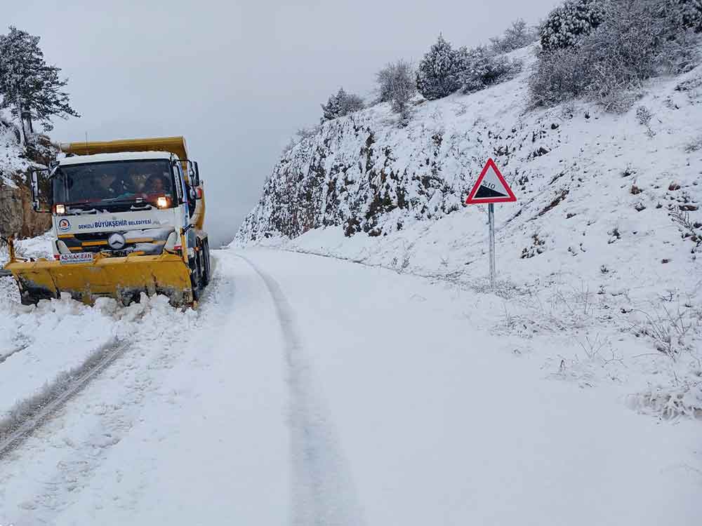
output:
[[369, 94], [380, 67], [416, 64], [439, 32], [474, 46], [558, 3], [23, 0], [4, 1], [2, 15], [41, 36], [69, 78], [81, 118], [58, 119], [54, 140], [186, 137], [218, 245], [256, 204], [289, 137], [316, 123], [340, 86]]

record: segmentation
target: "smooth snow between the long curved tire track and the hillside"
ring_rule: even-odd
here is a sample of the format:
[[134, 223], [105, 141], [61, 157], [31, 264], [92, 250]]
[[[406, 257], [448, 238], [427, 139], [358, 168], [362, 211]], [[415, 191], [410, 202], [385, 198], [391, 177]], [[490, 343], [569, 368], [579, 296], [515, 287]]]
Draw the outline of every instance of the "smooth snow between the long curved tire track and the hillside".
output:
[[616, 383], [560, 381], [544, 357], [562, 341], [495, 335], [461, 288], [254, 253], [296, 313], [369, 525], [696, 521], [698, 422], [641, 418]]

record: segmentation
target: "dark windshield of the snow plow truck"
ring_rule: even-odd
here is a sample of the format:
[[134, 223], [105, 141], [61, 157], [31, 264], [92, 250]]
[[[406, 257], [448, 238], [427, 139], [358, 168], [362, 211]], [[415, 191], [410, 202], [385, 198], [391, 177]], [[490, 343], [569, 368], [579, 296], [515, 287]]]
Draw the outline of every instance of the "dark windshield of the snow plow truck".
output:
[[171, 163], [112, 161], [59, 166], [52, 177], [53, 202], [73, 208], [154, 201], [173, 202]]

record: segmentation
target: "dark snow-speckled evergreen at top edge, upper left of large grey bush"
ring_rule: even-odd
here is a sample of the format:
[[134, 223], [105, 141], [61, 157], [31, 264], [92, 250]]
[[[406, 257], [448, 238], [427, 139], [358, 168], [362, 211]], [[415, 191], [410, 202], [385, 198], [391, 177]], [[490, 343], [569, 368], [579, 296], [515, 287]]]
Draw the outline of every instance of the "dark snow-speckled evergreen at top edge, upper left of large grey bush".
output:
[[574, 46], [578, 38], [599, 26], [604, 0], [567, 0], [541, 26], [541, 48], [546, 51]]

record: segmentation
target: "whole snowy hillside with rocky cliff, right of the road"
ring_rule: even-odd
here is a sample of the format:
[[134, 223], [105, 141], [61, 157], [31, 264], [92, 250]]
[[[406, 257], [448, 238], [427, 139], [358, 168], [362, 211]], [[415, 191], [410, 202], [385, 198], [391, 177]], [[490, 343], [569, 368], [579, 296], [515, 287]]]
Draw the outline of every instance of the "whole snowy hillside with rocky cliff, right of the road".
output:
[[518, 201], [496, 205], [502, 300], [487, 322], [534, 345], [567, 335], [552, 356], [564, 375], [641, 372], [642, 409], [699, 414], [702, 67], [651, 81], [623, 115], [528, 111], [531, 52], [513, 53], [516, 79], [418, 104], [406, 128], [386, 104], [325, 123], [279, 161], [235, 243], [484, 292], [486, 207], [463, 201], [492, 157]]

